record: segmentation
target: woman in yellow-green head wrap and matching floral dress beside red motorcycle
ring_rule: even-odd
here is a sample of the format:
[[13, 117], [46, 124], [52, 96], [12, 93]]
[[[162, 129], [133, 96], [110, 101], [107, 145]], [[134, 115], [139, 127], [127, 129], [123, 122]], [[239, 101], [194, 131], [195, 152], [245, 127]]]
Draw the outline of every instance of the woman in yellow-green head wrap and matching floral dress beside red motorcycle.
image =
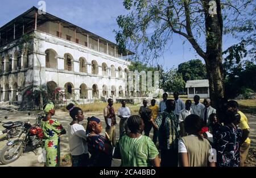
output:
[[41, 121], [42, 130], [44, 133], [44, 148], [46, 149], [46, 167], [56, 167], [60, 165], [60, 135], [66, 133], [63, 126], [56, 119], [52, 119], [55, 114], [54, 104], [48, 102], [43, 106], [43, 111], [46, 114]]

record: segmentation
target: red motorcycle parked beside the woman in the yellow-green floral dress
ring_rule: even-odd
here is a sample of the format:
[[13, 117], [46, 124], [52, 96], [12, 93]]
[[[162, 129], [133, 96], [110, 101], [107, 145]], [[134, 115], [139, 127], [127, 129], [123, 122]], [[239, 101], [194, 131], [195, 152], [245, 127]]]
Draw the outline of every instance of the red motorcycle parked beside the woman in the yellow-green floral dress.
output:
[[31, 147], [33, 151], [43, 146], [44, 135], [40, 126], [40, 120], [43, 117], [42, 114], [36, 115], [34, 125], [31, 125], [29, 120], [23, 123], [18, 139], [6, 143], [6, 146], [0, 152], [0, 162], [2, 164], [15, 162], [25, 152], [27, 146]]

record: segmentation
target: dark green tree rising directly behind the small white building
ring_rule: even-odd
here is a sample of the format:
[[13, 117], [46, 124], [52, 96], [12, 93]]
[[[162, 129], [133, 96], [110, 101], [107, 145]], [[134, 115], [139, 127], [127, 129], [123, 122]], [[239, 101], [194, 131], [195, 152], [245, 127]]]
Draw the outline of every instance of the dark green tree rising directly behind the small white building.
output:
[[207, 78], [205, 65], [200, 59], [194, 59], [181, 63], [177, 72], [181, 73], [185, 82], [188, 80], [202, 80]]

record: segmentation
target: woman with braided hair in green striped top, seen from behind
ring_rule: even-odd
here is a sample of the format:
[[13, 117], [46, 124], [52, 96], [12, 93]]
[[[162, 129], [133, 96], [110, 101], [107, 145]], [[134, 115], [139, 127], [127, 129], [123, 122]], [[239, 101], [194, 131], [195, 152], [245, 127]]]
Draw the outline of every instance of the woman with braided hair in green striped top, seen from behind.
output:
[[117, 147], [122, 167], [159, 167], [158, 149], [148, 136], [142, 135], [144, 122], [140, 115], [131, 115], [127, 120], [130, 133], [119, 139]]

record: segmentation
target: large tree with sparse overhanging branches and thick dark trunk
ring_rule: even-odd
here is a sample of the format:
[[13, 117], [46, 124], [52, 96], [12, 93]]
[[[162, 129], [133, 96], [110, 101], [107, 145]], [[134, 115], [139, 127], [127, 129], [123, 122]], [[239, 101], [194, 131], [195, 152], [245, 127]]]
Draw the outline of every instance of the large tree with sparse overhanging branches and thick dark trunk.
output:
[[205, 61], [213, 105], [224, 97], [222, 35], [255, 24], [253, 1], [124, 0], [123, 5], [130, 13], [117, 18], [119, 52], [131, 44], [136, 59], [157, 59], [172, 35], [180, 35]]

